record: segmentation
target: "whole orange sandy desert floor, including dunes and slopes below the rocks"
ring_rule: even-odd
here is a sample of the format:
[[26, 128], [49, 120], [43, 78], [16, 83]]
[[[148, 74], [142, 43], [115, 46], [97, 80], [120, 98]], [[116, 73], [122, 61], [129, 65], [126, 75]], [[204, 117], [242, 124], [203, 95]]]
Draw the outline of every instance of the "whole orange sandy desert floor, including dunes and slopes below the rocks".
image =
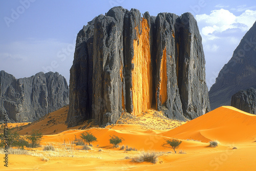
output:
[[[68, 106], [33, 123], [9, 124], [20, 135], [39, 130], [44, 139], [41, 147], [25, 147], [27, 155], [9, 155], [8, 167], [3, 163], [4, 154], [0, 154], [0, 170], [256, 170], [256, 115], [230, 106], [188, 122], [167, 119], [154, 110], [136, 117], [123, 114], [118, 124], [104, 129], [93, 122], [67, 129], [67, 111]], [[83, 132], [91, 132], [98, 140], [91, 150], [72, 144]], [[124, 139], [120, 146], [137, 151], [113, 148], [111, 135]], [[162, 146], [166, 138], [182, 141], [177, 154]], [[211, 140], [220, 144], [210, 147]], [[55, 151], [43, 151], [49, 144]], [[148, 150], [159, 156], [156, 164], [133, 161], [141, 151]]]

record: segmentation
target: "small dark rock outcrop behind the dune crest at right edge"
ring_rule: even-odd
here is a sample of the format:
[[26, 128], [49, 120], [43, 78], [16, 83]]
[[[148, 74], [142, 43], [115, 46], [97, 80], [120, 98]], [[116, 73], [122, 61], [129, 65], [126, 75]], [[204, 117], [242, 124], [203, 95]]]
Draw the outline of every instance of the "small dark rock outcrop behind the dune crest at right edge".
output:
[[237, 92], [231, 98], [231, 106], [256, 115], [256, 90], [249, 88]]

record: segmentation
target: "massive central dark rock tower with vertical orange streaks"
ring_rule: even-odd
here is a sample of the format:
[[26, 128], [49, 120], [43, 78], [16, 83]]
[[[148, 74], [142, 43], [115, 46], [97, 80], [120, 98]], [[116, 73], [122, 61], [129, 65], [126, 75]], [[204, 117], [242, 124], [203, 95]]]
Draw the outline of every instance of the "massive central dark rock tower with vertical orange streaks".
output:
[[210, 111], [197, 22], [190, 13], [141, 17], [114, 7], [77, 35], [68, 125], [95, 119], [104, 126], [123, 111], [150, 108], [179, 120]]

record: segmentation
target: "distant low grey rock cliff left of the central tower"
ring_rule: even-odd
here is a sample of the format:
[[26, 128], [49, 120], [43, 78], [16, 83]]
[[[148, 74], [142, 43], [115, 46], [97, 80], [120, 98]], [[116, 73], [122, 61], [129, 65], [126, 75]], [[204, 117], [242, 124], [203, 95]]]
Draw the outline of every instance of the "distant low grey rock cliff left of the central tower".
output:
[[0, 72], [0, 115], [8, 112], [11, 122], [32, 122], [69, 104], [66, 79], [57, 72], [39, 72], [16, 79]]

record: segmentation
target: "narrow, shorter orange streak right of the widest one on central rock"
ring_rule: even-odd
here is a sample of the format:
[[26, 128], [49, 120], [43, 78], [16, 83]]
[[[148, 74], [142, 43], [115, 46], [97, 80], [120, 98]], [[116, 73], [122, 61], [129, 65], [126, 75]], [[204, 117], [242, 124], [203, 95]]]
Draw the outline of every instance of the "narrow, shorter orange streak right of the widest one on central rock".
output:
[[160, 68], [160, 99], [163, 104], [167, 100], [167, 70], [166, 70], [166, 48], [163, 50], [163, 57]]

